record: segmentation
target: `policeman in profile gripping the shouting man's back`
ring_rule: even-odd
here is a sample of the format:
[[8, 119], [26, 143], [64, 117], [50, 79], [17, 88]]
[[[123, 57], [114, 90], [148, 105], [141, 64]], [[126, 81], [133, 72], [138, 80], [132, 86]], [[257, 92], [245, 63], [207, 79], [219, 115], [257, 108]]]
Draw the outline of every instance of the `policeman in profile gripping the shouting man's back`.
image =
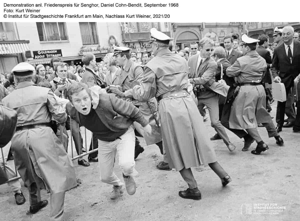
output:
[[[132, 99], [132, 103], [139, 107], [140, 111], [143, 113], [143, 116], [148, 120], [149, 124], [152, 127], [152, 134], [144, 134], [143, 127], [137, 122], [134, 123], [136, 130], [145, 138], [147, 145], [156, 144], [161, 154], [163, 154], [163, 142], [161, 136], [161, 129], [158, 127], [150, 107], [155, 114], [157, 111], [157, 100], [153, 96], [147, 102], [139, 102], [133, 99], [132, 95], [132, 83], [139, 84], [143, 79], [143, 68], [140, 65], [135, 64], [131, 60], [129, 60], [129, 52], [130, 48], [126, 47], [117, 47], [113, 46], [115, 49], [114, 55], [116, 56], [117, 62], [122, 66], [122, 73], [119, 75], [120, 82], [122, 82], [124, 93], [118, 90], [117, 87], [111, 87], [110, 90], [113, 93], [116, 93], [120, 97]], [[135, 158], [140, 152], [143, 152], [143, 147], [136, 146], [135, 150]], [[161, 162], [157, 165], [158, 169], [161, 170], [171, 170], [169, 165], [166, 162]]]

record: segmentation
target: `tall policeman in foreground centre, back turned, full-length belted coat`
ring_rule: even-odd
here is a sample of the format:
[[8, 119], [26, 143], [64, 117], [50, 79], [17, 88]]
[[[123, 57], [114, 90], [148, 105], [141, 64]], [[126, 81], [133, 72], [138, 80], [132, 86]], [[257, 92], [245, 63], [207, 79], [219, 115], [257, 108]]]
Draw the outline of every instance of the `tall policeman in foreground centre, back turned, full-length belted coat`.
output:
[[201, 193], [191, 167], [208, 164], [221, 178], [223, 186], [231, 178], [218, 164], [214, 149], [205, 133], [200, 113], [190, 94], [187, 61], [169, 49], [172, 38], [151, 29], [152, 51], [155, 57], [144, 67], [140, 85], [133, 87], [133, 97], [147, 101], [156, 96], [159, 100], [161, 132], [170, 168], [179, 171], [189, 188], [179, 191], [186, 199], [201, 199]]

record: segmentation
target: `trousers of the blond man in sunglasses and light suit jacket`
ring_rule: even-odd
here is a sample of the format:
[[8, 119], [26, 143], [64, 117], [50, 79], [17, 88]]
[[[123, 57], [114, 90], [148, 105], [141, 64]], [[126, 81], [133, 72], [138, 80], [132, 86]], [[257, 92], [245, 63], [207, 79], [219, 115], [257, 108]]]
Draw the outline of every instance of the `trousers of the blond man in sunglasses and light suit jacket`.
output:
[[207, 107], [209, 117], [211, 120], [211, 127], [220, 135], [226, 145], [229, 144], [229, 137], [226, 134], [224, 126], [219, 120], [219, 104], [218, 104], [218, 95], [215, 94], [211, 98], [199, 99], [198, 98], [198, 109], [200, 113], [202, 112], [204, 106]]

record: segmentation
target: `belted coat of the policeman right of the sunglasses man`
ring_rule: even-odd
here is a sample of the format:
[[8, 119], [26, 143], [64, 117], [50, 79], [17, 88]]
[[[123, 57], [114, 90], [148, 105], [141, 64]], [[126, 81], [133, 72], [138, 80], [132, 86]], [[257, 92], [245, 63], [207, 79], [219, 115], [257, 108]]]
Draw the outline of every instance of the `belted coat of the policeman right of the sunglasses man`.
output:
[[[256, 51], [250, 51], [228, 67], [226, 75], [235, 77], [237, 83], [260, 83], [266, 68], [265, 59]], [[269, 122], [265, 100], [265, 89], [261, 84], [241, 86], [231, 106], [229, 128], [250, 129]]]

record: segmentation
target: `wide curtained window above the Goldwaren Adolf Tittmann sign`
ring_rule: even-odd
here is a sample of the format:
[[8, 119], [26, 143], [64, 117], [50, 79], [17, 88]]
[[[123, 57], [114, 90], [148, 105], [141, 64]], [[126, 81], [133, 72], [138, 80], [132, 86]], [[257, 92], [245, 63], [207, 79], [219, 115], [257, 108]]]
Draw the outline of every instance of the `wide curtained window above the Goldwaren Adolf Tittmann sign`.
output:
[[40, 41], [68, 40], [65, 22], [37, 22]]

